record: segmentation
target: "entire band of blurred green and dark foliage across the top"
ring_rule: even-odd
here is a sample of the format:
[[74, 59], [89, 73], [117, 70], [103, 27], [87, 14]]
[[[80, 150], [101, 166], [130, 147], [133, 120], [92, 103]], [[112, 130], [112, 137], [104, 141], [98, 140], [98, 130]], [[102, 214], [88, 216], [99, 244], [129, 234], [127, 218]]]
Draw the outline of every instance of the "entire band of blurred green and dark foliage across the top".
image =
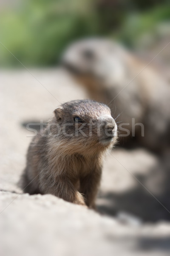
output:
[[26, 66], [54, 65], [69, 43], [88, 36], [133, 45], [134, 38], [170, 18], [167, 6], [162, 1], [148, 11], [147, 4], [133, 0], [17, 1], [0, 10], [0, 66], [20, 65], [9, 51]]

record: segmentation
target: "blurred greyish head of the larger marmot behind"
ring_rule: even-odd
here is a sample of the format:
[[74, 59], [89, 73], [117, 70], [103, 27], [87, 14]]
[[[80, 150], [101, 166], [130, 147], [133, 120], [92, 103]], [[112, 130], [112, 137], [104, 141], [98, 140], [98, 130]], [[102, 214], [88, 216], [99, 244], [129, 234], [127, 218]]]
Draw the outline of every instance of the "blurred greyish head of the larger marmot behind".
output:
[[[78, 79], [89, 79], [97, 86], [121, 83], [127, 74], [127, 52], [113, 41], [85, 39], [65, 51], [62, 64]], [[87, 82], [87, 84], [89, 83]]]

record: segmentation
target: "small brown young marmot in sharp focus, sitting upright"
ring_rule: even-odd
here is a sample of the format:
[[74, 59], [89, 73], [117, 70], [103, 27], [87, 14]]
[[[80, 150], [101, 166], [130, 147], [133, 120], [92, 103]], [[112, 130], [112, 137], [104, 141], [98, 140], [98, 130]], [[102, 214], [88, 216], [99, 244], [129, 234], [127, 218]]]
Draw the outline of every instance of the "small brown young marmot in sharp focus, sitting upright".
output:
[[[83, 123], [75, 123], [75, 116]], [[81, 127], [85, 136], [80, 131], [75, 133]], [[106, 105], [90, 100], [62, 104], [54, 111], [42, 136], [37, 134], [28, 148], [22, 177], [24, 192], [49, 193], [94, 208], [103, 154], [115, 142], [116, 123]]]

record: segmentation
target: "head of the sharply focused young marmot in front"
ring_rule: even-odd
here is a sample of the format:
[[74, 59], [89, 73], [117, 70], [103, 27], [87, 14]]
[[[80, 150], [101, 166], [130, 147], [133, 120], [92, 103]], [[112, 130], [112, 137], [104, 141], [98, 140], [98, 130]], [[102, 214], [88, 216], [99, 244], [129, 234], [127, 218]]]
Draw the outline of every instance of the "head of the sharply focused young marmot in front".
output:
[[116, 122], [110, 108], [102, 103], [75, 100], [62, 104], [54, 113], [52, 136], [68, 153], [97, 153], [116, 142]]

